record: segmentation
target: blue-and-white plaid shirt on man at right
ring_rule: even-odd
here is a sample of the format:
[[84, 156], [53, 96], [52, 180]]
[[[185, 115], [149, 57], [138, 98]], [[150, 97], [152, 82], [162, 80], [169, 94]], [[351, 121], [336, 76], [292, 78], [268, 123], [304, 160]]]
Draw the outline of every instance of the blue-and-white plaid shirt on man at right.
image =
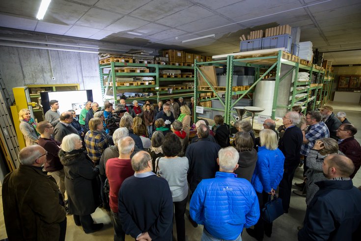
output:
[[307, 139], [308, 143], [302, 145], [301, 154], [307, 156], [309, 150], [312, 149], [315, 145], [316, 140], [325, 137], [330, 137], [330, 131], [323, 121], [308, 126], [305, 132], [305, 138]]

